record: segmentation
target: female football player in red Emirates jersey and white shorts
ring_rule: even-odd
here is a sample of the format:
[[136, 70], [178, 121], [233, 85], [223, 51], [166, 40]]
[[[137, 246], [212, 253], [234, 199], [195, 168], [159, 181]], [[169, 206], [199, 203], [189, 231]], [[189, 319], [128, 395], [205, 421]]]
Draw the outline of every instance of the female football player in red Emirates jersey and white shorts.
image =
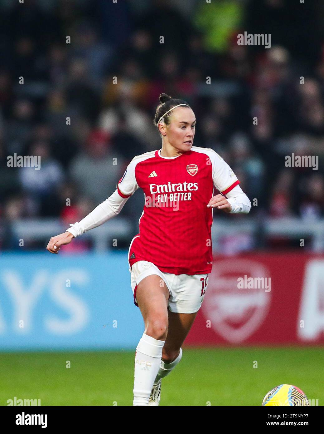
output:
[[[58, 253], [62, 244], [119, 214], [128, 197], [143, 189], [139, 233], [128, 252], [134, 303], [145, 325], [135, 352], [133, 405], [159, 405], [161, 379], [180, 362], [212, 270], [213, 208], [251, 208], [223, 158], [193, 146], [196, 118], [187, 102], [161, 94], [154, 125], [162, 148], [134, 157], [115, 192], [47, 246]], [[213, 196], [214, 187], [222, 194]]]

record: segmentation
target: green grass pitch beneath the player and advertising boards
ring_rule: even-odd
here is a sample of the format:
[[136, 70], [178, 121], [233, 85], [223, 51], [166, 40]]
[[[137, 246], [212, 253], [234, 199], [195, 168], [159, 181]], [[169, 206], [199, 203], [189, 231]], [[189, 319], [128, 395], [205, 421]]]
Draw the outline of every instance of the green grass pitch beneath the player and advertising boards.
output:
[[[261, 405], [282, 383], [323, 405], [322, 370], [320, 347], [184, 347], [162, 380], [160, 405]], [[0, 353], [0, 405], [15, 396], [42, 405], [132, 405], [133, 382], [134, 352]]]

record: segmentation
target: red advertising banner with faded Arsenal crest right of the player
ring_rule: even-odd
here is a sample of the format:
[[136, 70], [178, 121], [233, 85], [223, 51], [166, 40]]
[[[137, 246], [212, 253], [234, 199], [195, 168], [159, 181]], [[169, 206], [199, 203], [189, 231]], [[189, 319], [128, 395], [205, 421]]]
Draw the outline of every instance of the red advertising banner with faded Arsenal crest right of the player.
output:
[[324, 344], [324, 255], [215, 256], [186, 345]]

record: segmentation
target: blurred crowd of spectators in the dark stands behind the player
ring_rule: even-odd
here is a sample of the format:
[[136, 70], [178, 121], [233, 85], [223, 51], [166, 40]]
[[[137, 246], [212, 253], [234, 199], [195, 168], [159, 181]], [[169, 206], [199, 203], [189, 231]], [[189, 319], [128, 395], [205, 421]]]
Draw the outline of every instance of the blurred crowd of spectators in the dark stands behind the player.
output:
[[[134, 155], [161, 147], [162, 92], [189, 102], [194, 145], [257, 199], [247, 218], [324, 217], [323, 5], [184, 3], [0, 6], [0, 221], [81, 220]], [[271, 33], [271, 49], [239, 46], [244, 31]], [[15, 153], [40, 156], [41, 169], [8, 167]], [[292, 153], [317, 155], [318, 170], [285, 167]], [[122, 211], [134, 226], [143, 205], [136, 192]]]

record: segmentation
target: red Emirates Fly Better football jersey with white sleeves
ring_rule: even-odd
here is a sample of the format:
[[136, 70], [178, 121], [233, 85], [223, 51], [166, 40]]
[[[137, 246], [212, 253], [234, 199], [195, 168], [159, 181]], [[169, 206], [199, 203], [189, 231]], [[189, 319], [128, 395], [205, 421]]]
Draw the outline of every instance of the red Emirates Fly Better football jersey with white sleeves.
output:
[[128, 252], [130, 266], [145, 260], [173, 274], [212, 270], [214, 187], [226, 194], [239, 184], [228, 164], [213, 149], [193, 146], [176, 157], [160, 150], [137, 155], [118, 182], [121, 197], [144, 191], [139, 233]]

